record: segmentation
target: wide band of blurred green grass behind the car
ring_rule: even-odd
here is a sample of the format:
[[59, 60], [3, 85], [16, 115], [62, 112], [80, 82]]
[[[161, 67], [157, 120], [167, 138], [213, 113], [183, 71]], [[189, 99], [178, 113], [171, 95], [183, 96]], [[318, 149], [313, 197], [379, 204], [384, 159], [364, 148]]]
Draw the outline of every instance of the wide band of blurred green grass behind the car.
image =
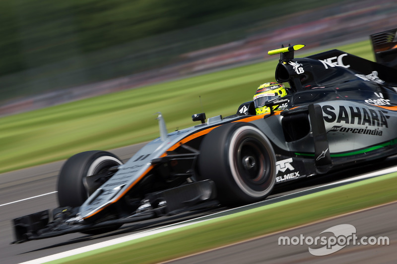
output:
[[[369, 41], [339, 47], [373, 60]], [[297, 53], [299, 56], [301, 53]], [[304, 56], [306, 54], [300, 55]], [[256, 88], [274, 81], [274, 60], [126, 90], [0, 118], [0, 172], [109, 150], [159, 136], [155, 113], [168, 131], [194, 125], [191, 115], [234, 114]], [[202, 107], [199, 97], [201, 97]]]

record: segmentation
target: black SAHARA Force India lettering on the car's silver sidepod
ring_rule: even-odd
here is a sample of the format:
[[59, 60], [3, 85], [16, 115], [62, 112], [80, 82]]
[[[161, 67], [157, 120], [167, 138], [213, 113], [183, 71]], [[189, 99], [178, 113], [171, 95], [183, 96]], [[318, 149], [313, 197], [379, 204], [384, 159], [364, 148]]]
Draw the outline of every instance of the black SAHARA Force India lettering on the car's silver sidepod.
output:
[[[345, 107], [339, 106], [339, 109], [335, 109], [333, 106], [323, 106], [323, 112], [326, 114], [323, 118], [328, 123], [340, 123], [340, 126], [333, 126], [329, 132], [350, 132], [357, 134], [367, 134], [381, 136], [382, 130], [380, 128], [388, 128], [387, 119], [389, 115], [385, 115], [387, 111], [374, 110], [366, 107]], [[355, 124], [363, 127], [359, 128], [347, 128], [342, 124]], [[364, 128], [365, 127], [365, 128]]]

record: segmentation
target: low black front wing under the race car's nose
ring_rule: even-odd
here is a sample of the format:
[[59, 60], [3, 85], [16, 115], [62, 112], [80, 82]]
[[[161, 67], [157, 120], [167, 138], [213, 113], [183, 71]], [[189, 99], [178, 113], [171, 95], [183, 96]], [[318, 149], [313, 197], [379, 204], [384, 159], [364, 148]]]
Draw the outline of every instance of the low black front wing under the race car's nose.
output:
[[[13, 219], [15, 241], [12, 243], [23, 243], [75, 232], [86, 231], [94, 234], [95, 230], [111, 230], [112, 227], [117, 229], [122, 224], [132, 222], [137, 223], [134, 229], [143, 228], [165, 219], [169, 221], [191, 212], [196, 213], [199, 210], [219, 207], [219, 202], [215, 200], [215, 197], [214, 182], [204, 180], [148, 194], [144, 199], [145, 204], [138, 212], [132, 215], [108, 215], [106, 219], [98, 219], [94, 223], [87, 223], [78, 217], [76, 215], [78, 208], [66, 207], [40, 211]], [[141, 222], [154, 218], [159, 219], [148, 223]], [[103, 232], [106, 231], [100, 233]]]

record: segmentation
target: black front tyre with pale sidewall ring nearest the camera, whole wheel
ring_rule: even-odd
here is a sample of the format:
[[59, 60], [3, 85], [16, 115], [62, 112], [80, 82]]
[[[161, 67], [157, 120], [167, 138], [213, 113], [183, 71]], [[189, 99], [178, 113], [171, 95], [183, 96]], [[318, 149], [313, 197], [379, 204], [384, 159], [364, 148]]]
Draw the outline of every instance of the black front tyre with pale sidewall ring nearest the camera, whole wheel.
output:
[[200, 175], [215, 182], [223, 205], [258, 202], [272, 191], [276, 159], [269, 140], [256, 126], [219, 126], [205, 136], [200, 152]]

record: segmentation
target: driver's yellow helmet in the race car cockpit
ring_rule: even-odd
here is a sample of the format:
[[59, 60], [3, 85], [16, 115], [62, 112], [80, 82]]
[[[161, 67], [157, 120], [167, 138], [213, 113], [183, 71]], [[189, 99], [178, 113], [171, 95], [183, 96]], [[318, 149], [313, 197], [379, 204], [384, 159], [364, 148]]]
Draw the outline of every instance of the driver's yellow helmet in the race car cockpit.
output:
[[[254, 105], [257, 114], [263, 114], [270, 112], [270, 107], [265, 106], [266, 101], [271, 99], [284, 97], [287, 95], [287, 91], [282, 83], [264, 83], [260, 85], [257, 92], [254, 95]], [[277, 106], [273, 106], [273, 110]]]

